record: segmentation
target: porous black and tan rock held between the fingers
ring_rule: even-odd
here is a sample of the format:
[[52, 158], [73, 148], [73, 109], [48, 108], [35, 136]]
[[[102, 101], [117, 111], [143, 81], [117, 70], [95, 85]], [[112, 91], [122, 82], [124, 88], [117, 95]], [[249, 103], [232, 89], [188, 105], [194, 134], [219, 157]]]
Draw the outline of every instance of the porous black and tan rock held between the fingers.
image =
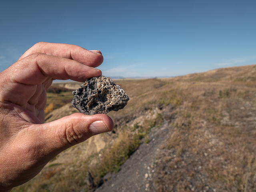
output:
[[104, 76], [87, 79], [73, 95], [72, 106], [85, 115], [118, 111], [129, 101], [124, 89]]

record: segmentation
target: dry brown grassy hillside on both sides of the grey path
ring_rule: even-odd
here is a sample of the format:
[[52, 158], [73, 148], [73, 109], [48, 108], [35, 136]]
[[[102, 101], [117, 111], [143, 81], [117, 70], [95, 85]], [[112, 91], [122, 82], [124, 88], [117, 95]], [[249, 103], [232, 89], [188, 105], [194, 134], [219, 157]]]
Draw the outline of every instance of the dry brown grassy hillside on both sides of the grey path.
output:
[[[105, 135], [104, 147], [82, 155], [83, 144], [73, 146], [64, 152], [69, 160], [58, 155], [33, 180], [12, 191], [89, 191], [108, 172], [118, 172], [141, 142], [149, 142], [152, 127], [170, 121], [172, 131], [152, 168], [156, 191], [254, 192], [255, 77], [256, 66], [250, 65], [175, 78], [115, 80], [130, 101], [108, 114], [115, 127]], [[77, 112], [66, 104], [72, 100], [70, 93], [48, 93], [48, 121]], [[66, 111], [61, 108], [65, 104]], [[169, 108], [171, 115], [164, 115]], [[84, 146], [90, 144], [86, 142]]]

